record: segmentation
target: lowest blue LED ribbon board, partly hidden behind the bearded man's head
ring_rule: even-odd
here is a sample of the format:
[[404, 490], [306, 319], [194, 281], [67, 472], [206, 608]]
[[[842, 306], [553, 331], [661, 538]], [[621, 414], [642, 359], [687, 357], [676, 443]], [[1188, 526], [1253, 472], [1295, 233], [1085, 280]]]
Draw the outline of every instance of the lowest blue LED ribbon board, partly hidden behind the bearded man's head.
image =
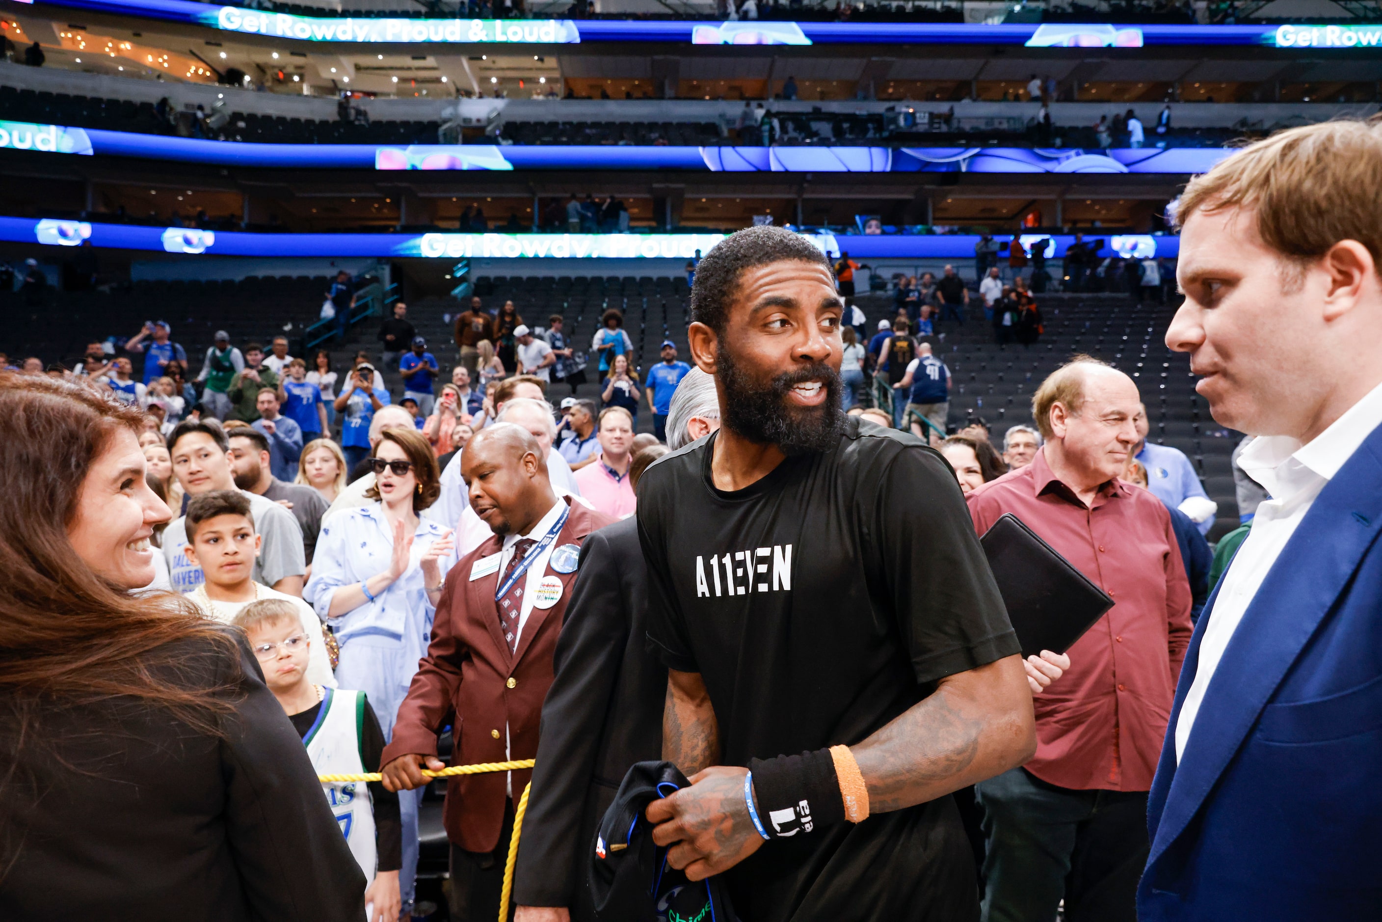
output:
[[[974, 257], [974, 245], [978, 242], [978, 236], [969, 234], [803, 236], [832, 257], [846, 250], [850, 256], [864, 258], [966, 260]], [[1103, 241], [1104, 246], [1119, 254], [1139, 258], [1175, 257], [1180, 250], [1180, 238], [1176, 236], [1085, 236], [1088, 241]], [[723, 239], [724, 234], [249, 234], [0, 217], [0, 241], [12, 243], [97, 246], [180, 256], [680, 260], [691, 257], [697, 250], [705, 254]], [[1021, 238], [1028, 249], [1039, 239], [1039, 235]], [[1059, 258], [1075, 238], [1057, 234], [1049, 239], [1052, 243], [1046, 247], [1046, 254]]]

